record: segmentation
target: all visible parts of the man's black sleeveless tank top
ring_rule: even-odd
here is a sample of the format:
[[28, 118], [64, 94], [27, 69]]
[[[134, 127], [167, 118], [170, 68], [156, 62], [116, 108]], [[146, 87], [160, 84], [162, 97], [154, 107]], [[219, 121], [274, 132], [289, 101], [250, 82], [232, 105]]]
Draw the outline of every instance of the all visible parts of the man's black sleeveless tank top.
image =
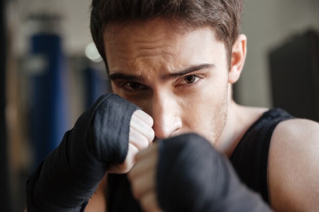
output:
[[[278, 123], [294, 118], [282, 109], [271, 109], [249, 128], [236, 146], [230, 161], [238, 176], [250, 189], [268, 197], [268, 153], [272, 134]], [[142, 212], [132, 196], [126, 174], [109, 174], [107, 186], [108, 212]]]

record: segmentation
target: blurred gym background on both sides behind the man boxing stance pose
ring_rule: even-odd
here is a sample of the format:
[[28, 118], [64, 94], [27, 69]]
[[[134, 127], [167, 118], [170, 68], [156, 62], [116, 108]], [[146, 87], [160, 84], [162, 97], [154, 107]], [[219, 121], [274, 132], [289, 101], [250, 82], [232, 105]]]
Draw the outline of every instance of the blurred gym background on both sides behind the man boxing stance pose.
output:
[[[0, 211], [76, 118], [111, 92], [89, 30], [89, 0], [2, 0]], [[319, 120], [319, 1], [247, 0], [248, 54], [234, 99]]]

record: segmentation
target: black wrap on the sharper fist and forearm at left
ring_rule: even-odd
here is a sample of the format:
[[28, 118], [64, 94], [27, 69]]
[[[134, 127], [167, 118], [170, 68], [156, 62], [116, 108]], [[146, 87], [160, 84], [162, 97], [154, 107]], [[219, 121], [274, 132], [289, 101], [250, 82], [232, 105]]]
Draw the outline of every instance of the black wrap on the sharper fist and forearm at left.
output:
[[137, 106], [101, 96], [65, 133], [26, 184], [28, 212], [84, 211], [111, 163], [123, 163]]

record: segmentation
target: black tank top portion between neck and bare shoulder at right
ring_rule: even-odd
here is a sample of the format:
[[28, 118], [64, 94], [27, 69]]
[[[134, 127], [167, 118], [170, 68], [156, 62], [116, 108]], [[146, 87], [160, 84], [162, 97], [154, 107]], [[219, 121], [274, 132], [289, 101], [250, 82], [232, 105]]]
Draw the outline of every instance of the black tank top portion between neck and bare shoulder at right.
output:
[[248, 129], [230, 157], [242, 182], [261, 194], [269, 203], [268, 155], [276, 126], [283, 120], [295, 118], [282, 109], [271, 109]]

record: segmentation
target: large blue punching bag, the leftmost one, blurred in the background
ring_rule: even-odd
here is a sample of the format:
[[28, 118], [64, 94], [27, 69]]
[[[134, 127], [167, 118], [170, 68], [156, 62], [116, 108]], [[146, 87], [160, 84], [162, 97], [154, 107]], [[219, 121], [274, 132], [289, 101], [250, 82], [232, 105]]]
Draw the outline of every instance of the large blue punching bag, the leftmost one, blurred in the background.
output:
[[[31, 77], [31, 137], [34, 142], [35, 164], [39, 164], [56, 148], [68, 128], [66, 80], [62, 39], [55, 34], [31, 37], [31, 52], [42, 63]], [[41, 64], [40, 63], [40, 64]]]

